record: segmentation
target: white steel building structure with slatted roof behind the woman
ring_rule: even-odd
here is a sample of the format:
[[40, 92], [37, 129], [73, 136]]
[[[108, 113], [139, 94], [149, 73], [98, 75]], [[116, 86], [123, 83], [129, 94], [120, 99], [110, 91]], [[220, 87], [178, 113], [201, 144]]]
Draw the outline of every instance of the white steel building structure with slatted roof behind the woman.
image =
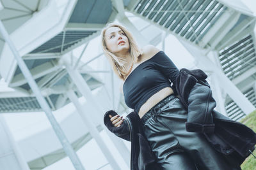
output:
[[131, 111], [100, 48], [108, 22], [204, 70], [232, 120], [255, 110], [256, 17], [242, 1], [0, 0], [0, 20], [1, 170], [129, 169], [129, 143], [102, 118]]

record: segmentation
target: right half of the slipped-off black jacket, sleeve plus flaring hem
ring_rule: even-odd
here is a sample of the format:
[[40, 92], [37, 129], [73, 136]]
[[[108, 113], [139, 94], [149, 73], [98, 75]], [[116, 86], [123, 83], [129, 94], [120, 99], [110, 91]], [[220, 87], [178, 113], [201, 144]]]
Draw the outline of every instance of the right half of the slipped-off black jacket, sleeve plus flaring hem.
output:
[[186, 130], [203, 132], [216, 150], [243, 162], [250, 155], [249, 150], [255, 149], [256, 134], [246, 125], [213, 110], [216, 102], [205, 75], [203, 71], [180, 69], [177, 76], [176, 90], [188, 109]]

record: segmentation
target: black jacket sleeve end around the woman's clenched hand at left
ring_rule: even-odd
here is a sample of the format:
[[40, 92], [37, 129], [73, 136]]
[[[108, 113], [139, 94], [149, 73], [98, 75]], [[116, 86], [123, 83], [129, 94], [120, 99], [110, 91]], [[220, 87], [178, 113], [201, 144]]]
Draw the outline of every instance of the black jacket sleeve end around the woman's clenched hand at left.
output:
[[109, 110], [104, 115], [104, 124], [108, 128], [109, 131], [113, 132], [119, 138], [125, 139], [127, 141], [131, 141], [130, 139], [130, 131], [127, 121], [124, 121], [120, 127], [115, 127], [112, 122], [110, 121], [109, 115], [114, 117], [117, 113], [113, 110]]

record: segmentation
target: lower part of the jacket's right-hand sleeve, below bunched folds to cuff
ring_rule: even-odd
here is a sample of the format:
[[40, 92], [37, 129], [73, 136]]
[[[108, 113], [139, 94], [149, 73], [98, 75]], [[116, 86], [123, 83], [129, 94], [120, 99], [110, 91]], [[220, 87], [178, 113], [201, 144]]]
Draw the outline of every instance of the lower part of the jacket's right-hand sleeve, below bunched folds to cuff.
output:
[[214, 132], [212, 111], [216, 102], [212, 97], [212, 91], [205, 81], [198, 80], [188, 95], [188, 120], [186, 131], [188, 132]]

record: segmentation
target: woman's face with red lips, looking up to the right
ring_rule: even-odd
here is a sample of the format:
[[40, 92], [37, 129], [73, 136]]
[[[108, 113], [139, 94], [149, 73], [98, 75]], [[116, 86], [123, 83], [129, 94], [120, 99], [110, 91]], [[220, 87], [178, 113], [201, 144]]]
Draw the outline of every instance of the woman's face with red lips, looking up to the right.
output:
[[126, 53], [130, 48], [127, 36], [119, 27], [110, 27], [106, 30], [105, 43], [109, 52], [115, 55]]

